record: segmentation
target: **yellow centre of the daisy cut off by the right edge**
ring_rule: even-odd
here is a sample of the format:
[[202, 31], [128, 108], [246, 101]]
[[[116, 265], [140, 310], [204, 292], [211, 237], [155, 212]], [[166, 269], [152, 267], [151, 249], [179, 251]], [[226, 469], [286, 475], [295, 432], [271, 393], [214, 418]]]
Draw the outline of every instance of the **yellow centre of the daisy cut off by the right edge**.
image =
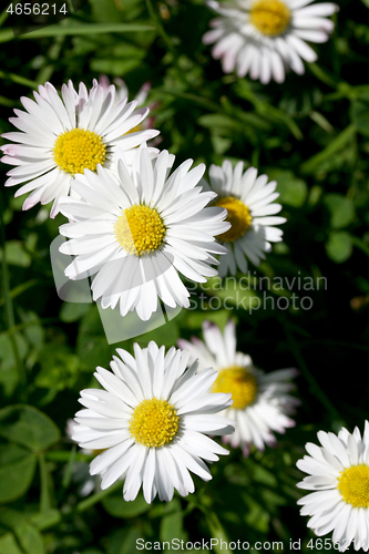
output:
[[338, 490], [353, 507], [369, 507], [369, 466], [361, 463], [340, 472]]

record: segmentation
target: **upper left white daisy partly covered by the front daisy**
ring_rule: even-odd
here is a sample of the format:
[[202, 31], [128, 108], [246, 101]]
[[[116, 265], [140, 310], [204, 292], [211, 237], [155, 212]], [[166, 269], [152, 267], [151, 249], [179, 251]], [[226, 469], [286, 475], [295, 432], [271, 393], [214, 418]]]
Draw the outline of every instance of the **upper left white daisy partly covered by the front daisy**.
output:
[[10, 122], [20, 132], [10, 132], [3, 138], [16, 144], [1, 146], [1, 161], [16, 165], [6, 186], [25, 183], [16, 193], [31, 194], [23, 209], [38, 202], [53, 202], [51, 217], [59, 213], [59, 199], [69, 195], [75, 174], [85, 168], [95, 172], [98, 164], [112, 167], [117, 148], [133, 155], [133, 148], [156, 136], [158, 131], [135, 131], [146, 117], [148, 107], [135, 110], [137, 101], [127, 99], [115, 103], [115, 86], [104, 89], [94, 81], [88, 91], [80, 83], [79, 92], [71, 81], [62, 86], [62, 99], [51, 83], [39, 86], [34, 100], [22, 98], [27, 110], [14, 110]]

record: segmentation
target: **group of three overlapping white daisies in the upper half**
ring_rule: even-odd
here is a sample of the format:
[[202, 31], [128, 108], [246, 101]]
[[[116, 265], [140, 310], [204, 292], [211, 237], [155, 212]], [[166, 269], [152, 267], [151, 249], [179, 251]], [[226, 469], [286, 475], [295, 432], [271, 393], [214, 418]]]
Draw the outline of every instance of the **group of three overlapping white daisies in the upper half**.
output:
[[60, 98], [40, 85], [34, 101], [21, 99], [25, 111], [14, 110], [19, 131], [2, 135], [12, 143], [1, 160], [16, 166], [6, 186], [30, 193], [23, 209], [53, 202], [51, 217], [68, 217], [60, 250], [74, 257], [65, 275], [92, 277], [102, 308], [148, 320], [158, 301], [189, 306], [180, 274], [205, 283], [246, 273], [247, 259], [258, 265], [281, 240], [276, 225], [285, 218], [275, 215], [276, 182], [255, 167], [213, 165], [209, 184], [205, 165], [192, 168], [192, 160], [172, 171], [174, 156], [146, 144], [158, 134], [144, 124], [148, 107], [136, 107], [147, 88], [133, 102], [121, 89], [103, 80], [75, 91], [69, 82]]

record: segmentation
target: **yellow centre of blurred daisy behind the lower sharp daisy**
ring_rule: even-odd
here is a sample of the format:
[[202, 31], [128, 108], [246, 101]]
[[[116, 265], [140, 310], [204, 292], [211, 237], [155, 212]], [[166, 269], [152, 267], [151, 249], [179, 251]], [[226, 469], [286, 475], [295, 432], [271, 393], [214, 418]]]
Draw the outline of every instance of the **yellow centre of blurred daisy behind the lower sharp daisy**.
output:
[[256, 378], [247, 369], [232, 366], [223, 369], [212, 387], [213, 392], [230, 392], [236, 410], [244, 410], [252, 404], [257, 394]]

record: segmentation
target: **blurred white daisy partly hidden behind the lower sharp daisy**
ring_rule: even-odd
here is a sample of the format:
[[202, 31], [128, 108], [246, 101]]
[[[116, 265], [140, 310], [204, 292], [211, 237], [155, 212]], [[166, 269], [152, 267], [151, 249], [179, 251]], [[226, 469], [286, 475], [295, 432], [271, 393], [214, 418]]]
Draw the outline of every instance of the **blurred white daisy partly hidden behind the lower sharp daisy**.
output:
[[294, 412], [299, 400], [288, 394], [294, 386], [288, 382], [297, 375], [296, 369], [281, 369], [264, 373], [256, 369], [248, 355], [236, 351], [235, 324], [229, 320], [224, 335], [216, 325], [203, 324], [205, 343], [193, 337], [192, 342], [180, 339], [178, 346], [188, 350], [191, 359], [199, 361], [199, 371], [213, 367], [219, 375], [212, 387], [212, 392], [230, 392], [233, 404], [225, 416], [236, 421], [236, 430], [224, 438], [230, 447], [240, 447], [248, 455], [254, 444], [263, 451], [265, 444], [274, 447], [276, 438], [273, 431], [284, 433], [295, 422], [287, 417]]

